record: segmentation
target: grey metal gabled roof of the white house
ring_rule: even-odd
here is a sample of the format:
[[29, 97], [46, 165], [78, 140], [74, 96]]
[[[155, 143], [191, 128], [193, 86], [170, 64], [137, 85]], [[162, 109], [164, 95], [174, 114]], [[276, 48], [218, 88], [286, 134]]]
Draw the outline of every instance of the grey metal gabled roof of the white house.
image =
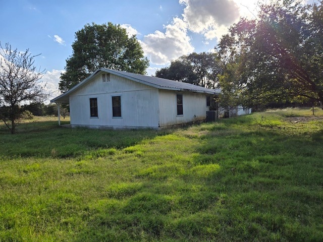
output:
[[175, 91], [189, 91], [189, 92], [199, 92], [199, 93], [207, 93], [207, 94], [219, 94], [221, 91], [220, 89], [209, 89], [205, 87], [196, 86], [193, 84], [168, 80], [164, 78], [158, 77], [151, 77], [145, 76], [130, 72], [123, 72], [123, 71], [115, 71], [105, 68], [100, 68], [93, 72], [88, 78], [84, 79], [82, 82], [68, 90], [67, 92], [63, 93], [62, 95], [50, 100], [50, 102], [69, 102], [69, 95], [72, 94], [74, 91], [79, 89], [80, 87], [84, 86], [88, 82], [90, 82], [96, 74], [99, 72], [107, 72], [116, 76], [124, 77], [126, 79], [130, 79], [135, 82], [139, 82], [148, 86], [152, 86], [158, 89], [165, 89], [165, 90], [175, 90]]

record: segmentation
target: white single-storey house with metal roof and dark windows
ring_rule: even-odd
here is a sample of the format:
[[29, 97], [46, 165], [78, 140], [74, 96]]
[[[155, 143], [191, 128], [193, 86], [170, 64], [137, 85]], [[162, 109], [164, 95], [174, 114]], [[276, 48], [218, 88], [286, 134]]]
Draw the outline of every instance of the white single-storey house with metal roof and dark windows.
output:
[[205, 120], [219, 93], [189, 83], [100, 68], [52, 99], [69, 103], [71, 127], [152, 128]]

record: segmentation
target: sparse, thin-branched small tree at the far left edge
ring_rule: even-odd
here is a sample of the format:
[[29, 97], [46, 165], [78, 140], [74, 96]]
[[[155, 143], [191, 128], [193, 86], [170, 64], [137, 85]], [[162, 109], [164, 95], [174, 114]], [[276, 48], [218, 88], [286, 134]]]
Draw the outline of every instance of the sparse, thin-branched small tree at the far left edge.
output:
[[16, 122], [21, 115], [21, 104], [43, 101], [48, 94], [39, 85], [43, 71], [34, 66], [34, 58], [29, 49], [20, 52], [9, 43], [0, 43], [0, 119], [15, 133]]

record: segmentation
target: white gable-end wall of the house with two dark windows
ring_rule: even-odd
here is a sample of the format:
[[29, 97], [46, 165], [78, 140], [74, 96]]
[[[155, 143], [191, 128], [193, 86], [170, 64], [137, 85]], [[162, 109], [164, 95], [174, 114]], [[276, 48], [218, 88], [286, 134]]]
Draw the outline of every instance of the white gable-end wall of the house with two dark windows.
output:
[[[121, 96], [121, 117], [113, 117], [112, 97]], [[90, 117], [90, 98], [97, 98], [98, 117]], [[72, 127], [157, 128], [158, 89], [110, 75], [93, 81], [70, 95]]]

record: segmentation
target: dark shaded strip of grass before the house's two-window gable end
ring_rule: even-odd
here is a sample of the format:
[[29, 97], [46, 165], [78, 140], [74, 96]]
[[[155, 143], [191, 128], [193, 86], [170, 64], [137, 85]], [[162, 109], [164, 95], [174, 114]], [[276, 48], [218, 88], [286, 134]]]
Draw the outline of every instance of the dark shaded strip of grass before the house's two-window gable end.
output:
[[99, 148], [125, 148], [166, 132], [150, 129], [68, 129], [58, 127], [55, 121], [30, 122], [22, 124], [15, 135], [6, 130], [0, 131], [0, 157], [77, 157]]

